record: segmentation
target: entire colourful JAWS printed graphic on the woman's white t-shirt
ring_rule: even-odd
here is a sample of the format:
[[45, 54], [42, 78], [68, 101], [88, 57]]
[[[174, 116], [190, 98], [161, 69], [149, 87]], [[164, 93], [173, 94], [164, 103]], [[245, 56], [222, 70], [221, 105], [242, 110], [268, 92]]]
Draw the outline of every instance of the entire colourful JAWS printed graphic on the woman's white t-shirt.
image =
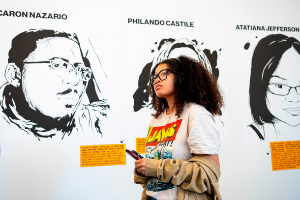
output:
[[[172, 159], [173, 144], [180, 128], [182, 119], [160, 127], [149, 127], [146, 140], [146, 158], [150, 159]], [[174, 185], [162, 182], [159, 178], [150, 179], [147, 190], [153, 192], [164, 191], [174, 188]]]

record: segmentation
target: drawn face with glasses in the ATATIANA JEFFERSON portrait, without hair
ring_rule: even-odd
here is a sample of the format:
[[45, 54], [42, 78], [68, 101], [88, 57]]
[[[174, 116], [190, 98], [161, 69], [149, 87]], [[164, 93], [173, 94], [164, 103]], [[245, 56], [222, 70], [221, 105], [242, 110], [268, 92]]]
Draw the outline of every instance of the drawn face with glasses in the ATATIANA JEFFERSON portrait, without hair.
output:
[[290, 126], [300, 124], [299, 74], [300, 55], [294, 48], [290, 48], [283, 54], [279, 65], [272, 74], [266, 95], [267, 108], [270, 113]]

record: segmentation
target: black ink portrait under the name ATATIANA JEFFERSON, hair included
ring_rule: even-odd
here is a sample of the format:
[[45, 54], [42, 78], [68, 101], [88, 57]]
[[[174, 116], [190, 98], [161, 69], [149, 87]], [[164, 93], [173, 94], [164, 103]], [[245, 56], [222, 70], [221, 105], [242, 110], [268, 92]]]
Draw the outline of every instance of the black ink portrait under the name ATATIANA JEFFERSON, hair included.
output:
[[260, 140], [300, 133], [300, 43], [283, 34], [259, 41], [252, 57], [249, 101]]

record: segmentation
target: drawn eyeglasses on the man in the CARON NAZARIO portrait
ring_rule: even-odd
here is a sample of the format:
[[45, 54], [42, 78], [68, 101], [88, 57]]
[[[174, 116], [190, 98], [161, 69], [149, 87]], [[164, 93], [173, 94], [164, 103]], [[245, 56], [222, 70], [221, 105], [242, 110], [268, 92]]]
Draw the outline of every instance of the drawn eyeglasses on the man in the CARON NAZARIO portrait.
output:
[[24, 64], [49, 63], [50, 71], [56, 76], [66, 77], [70, 72], [74, 71], [81, 81], [89, 81], [91, 77], [91, 69], [84, 64], [77, 63], [76, 66], [63, 60], [47, 60], [37, 62], [23, 62]]

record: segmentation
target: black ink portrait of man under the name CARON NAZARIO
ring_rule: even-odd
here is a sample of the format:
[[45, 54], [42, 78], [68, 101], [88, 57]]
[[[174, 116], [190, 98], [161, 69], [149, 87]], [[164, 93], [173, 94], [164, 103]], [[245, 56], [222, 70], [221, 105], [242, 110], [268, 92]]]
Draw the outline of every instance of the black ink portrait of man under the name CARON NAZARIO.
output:
[[[75, 33], [31, 29], [18, 34], [11, 43], [5, 79], [0, 106], [10, 124], [39, 140], [62, 140], [74, 129], [102, 136], [109, 105]], [[89, 104], [81, 103], [84, 96]]]

